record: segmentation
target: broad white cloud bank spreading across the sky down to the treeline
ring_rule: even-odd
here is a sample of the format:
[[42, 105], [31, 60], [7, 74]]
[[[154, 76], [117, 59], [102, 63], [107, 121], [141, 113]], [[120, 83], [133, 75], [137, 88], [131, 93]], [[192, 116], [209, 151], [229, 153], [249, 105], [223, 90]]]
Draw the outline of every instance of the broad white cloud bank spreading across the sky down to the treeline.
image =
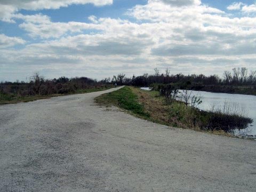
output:
[[[242, 10], [245, 5], [239, 6]], [[12, 20], [19, 20], [19, 27], [37, 43], [14, 49], [15, 38], [20, 43], [22, 39], [10, 37], [12, 41], [5, 43], [9, 46], [0, 50], [0, 77], [15, 70], [20, 71], [15, 78], [38, 70], [48, 78], [98, 79], [117, 73], [150, 74], [155, 67], [206, 75], [241, 66], [256, 70], [255, 17], [230, 17], [199, 1], [152, 0], [127, 14], [131, 20], [91, 15], [89, 22], [12, 14]]]

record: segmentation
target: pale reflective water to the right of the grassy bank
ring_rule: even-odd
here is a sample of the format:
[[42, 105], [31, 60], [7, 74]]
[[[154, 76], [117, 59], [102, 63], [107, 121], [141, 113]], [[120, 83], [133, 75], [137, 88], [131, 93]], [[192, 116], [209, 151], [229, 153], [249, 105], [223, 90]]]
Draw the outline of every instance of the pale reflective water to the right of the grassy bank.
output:
[[[149, 87], [142, 87], [142, 89], [150, 90]], [[223, 109], [224, 105], [237, 107], [238, 111], [241, 111], [244, 116], [253, 119], [253, 123], [246, 130], [247, 134], [256, 135], [256, 96], [205, 91], [192, 91], [191, 97], [193, 95], [201, 97], [203, 102], [198, 106], [201, 110], [211, 110], [213, 106], [214, 108]]]

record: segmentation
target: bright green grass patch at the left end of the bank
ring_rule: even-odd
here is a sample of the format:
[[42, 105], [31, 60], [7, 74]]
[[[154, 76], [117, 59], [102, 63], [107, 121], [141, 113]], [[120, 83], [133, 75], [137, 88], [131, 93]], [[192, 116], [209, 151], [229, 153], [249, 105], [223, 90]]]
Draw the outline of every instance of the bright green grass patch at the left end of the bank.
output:
[[131, 87], [125, 86], [114, 92], [106, 93], [95, 98], [95, 101], [100, 105], [117, 106], [131, 111], [134, 115], [143, 118], [149, 118], [143, 105], [138, 102], [138, 96], [135, 94]]

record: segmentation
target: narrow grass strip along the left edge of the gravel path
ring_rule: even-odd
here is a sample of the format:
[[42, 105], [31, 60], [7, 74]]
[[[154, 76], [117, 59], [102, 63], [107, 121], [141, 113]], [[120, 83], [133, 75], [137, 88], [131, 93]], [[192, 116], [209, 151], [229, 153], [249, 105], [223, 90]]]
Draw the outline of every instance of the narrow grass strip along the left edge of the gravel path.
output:
[[76, 90], [74, 92], [69, 92], [66, 94], [49, 94], [49, 95], [30, 95], [30, 96], [21, 96], [19, 94], [6, 94], [0, 92], [0, 105], [5, 104], [12, 104], [12, 103], [18, 103], [18, 102], [30, 102], [30, 101], [36, 101], [38, 99], [49, 99], [52, 97], [58, 97], [61, 95], [69, 95], [69, 94], [81, 94], [81, 93], [91, 93], [91, 92], [97, 92], [97, 91], [104, 91], [112, 88], [114, 86], [103, 86], [103, 87], [94, 87], [91, 89], [83, 89], [83, 90]]

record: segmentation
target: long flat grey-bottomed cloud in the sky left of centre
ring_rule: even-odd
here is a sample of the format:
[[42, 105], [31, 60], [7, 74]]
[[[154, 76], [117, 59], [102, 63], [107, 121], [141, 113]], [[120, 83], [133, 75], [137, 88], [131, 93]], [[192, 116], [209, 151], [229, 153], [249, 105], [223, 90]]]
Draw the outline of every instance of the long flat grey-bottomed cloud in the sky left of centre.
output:
[[119, 34], [116, 37], [109, 34], [77, 35], [31, 45], [30, 49], [32, 47], [34, 50], [42, 49], [45, 54], [120, 55], [122, 57], [122, 55], [140, 55], [145, 47], [153, 44], [146, 38], [145, 41], [141, 40], [136, 37], [129, 38], [126, 34]]

